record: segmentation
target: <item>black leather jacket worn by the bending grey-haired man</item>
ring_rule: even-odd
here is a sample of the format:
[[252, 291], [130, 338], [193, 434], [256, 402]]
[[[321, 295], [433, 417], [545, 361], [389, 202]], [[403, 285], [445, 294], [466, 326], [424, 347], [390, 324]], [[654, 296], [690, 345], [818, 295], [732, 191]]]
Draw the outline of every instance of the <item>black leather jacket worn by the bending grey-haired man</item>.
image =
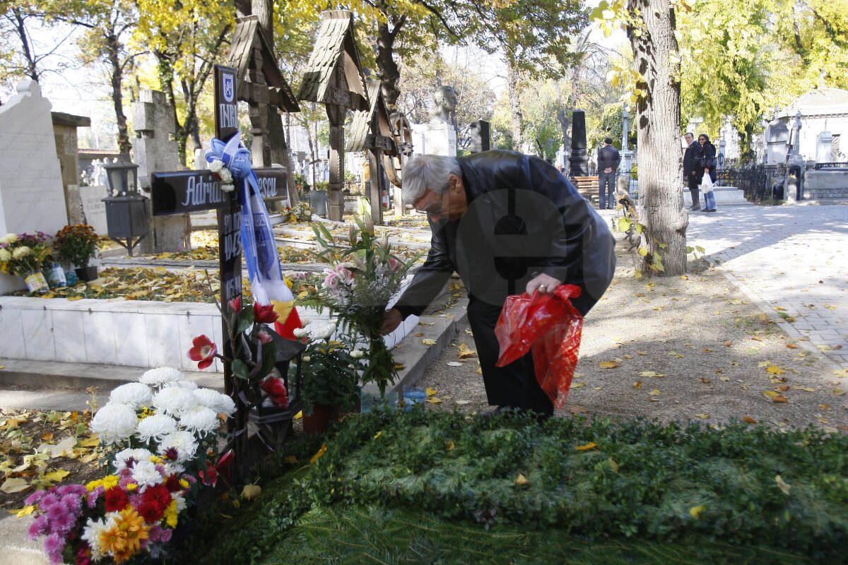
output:
[[616, 266], [605, 221], [542, 159], [496, 150], [458, 160], [468, 211], [431, 222], [427, 261], [395, 306], [404, 319], [421, 314], [454, 271], [471, 296], [498, 306], [521, 294], [533, 273], [550, 274], [580, 286], [583, 295], [572, 302], [589, 312]]

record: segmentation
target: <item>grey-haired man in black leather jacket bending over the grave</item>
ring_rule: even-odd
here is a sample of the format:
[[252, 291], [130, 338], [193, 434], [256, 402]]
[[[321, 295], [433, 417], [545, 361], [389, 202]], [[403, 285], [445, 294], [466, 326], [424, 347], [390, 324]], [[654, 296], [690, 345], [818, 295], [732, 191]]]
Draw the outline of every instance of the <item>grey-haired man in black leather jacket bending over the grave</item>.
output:
[[456, 271], [468, 291], [468, 320], [491, 405], [550, 415], [553, 403], [533, 372], [532, 353], [496, 368], [494, 335], [506, 296], [550, 293], [572, 284], [572, 302], [586, 314], [610, 285], [615, 241], [600, 216], [550, 164], [516, 152], [463, 158], [423, 155], [404, 168], [404, 199], [427, 213], [432, 240], [427, 261], [384, 331], [420, 314]]

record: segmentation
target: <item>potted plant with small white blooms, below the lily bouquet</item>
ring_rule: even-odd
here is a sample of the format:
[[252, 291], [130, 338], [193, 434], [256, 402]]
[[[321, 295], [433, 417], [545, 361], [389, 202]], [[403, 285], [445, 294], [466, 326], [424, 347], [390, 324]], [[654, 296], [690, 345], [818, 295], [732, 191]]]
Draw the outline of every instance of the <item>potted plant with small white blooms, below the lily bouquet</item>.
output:
[[[337, 422], [342, 410], [359, 399], [360, 368], [365, 352], [355, 348], [349, 337], [331, 340], [336, 324], [311, 332], [304, 352], [304, 431], [324, 432]], [[306, 335], [295, 330], [295, 335]]]

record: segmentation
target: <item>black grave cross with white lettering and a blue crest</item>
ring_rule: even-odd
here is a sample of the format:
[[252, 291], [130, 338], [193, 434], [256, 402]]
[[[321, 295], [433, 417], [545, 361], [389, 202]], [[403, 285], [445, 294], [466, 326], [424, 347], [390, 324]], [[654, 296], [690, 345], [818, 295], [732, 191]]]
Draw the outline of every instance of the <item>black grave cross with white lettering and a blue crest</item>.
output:
[[[215, 137], [225, 143], [238, 131], [236, 93], [236, 70], [215, 65]], [[287, 194], [286, 169], [260, 168], [254, 169], [254, 173], [263, 198]], [[220, 181], [209, 170], [153, 173], [150, 177], [154, 216], [204, 210], [215, 210], [218, 213], [220, 303], [223, 315], [221, 335], [224, 339], [221, 352], [224, 357], [232, 359], [232, 343], [226, 319], [231, 318], [232, 300], [242, 297], [242, 205], [238, 191], [222, 191]], [[224, 363], [224, 384], [226, 394], [238, 404], [231, 363]], [[227, 423], [228, 431], [232, 434], [245, 429], [247, 418], [246, 410], [237, 410]], [[237, 454], [244, 453], [246, 441], [244, 434], [235, 439]]]

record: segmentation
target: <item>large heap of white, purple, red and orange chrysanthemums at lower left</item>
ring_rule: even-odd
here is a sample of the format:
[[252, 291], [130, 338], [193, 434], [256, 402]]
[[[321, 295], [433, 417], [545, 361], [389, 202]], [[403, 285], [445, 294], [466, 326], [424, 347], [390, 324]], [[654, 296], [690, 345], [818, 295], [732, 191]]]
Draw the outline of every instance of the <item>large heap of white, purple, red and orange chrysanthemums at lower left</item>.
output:
[[107, 473], [87, 485], [38, 490], [29, 535], [45, 537], [52, 564], [126, 562], [165, 555], [180, 515], [203, 485], [215, 485], [230, 452], [217, 463], [229, 396], [198, 388], [176, 368], [154, 368], [112, 391], [89, 424], [111, 450]]

